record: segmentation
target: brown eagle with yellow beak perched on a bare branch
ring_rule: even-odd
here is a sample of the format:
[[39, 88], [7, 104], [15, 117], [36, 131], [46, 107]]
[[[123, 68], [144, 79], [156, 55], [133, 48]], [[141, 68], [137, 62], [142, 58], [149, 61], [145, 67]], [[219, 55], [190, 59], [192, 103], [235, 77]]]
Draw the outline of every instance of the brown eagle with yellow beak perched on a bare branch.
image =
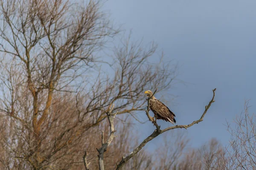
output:
[[[153, 95], [152, 91], [150, 90], [145, 91], [145, 94], [147, 94], [148, 97], [151, 97]], [[157, 119], [162, 119], [166, 122], [171, 122], [173, 125], [174, 123], [176, 123], [176, 120], [174, 118], [175, 114], [170, 111], [170, 109], [165, 104], [157, 100], [157, 98], [155, 98], [154, 96], [152, 96], [149, 100], [149, 108], [154, 113], [154, 117], [156, 118], [155, 121]]]

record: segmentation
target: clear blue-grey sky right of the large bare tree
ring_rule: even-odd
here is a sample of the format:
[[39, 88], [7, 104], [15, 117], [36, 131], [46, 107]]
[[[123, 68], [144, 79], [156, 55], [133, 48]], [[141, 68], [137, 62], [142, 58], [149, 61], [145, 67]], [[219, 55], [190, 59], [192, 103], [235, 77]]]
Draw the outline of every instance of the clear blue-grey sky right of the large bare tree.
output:
[[[111, 20], [133, 29], [134, 40], [154, 40], [166, 59], [179, 62], [177, 84], [168, 102], [178, 125], [201, 117], [217, 88], [215, 103], [204, 121], [190, 127], [187, 135], [197, 147], [210, 138], [227, 144], [224, 124], [244, 108], [244, 99], [256, 97], [256, 0], [108, 0], [104, 10]], [[157, 59], [158, 61], [158, 59]], [[157, 94], [161, 96], [162, 94]], [[172, 96], [170, 96], [170, 99]], [[250, 108], [253, 113], [256, 107]], [[152, 114], [152, 113], [151, 113]], [[147, 119], [145, 113], [142, 118]], [[167, 124], [163, 121], [162, 127]], [[137, 128], [141, 140], [151, 134], [150, 122]], [[158, 140], [151, 141], [151, 145]]]

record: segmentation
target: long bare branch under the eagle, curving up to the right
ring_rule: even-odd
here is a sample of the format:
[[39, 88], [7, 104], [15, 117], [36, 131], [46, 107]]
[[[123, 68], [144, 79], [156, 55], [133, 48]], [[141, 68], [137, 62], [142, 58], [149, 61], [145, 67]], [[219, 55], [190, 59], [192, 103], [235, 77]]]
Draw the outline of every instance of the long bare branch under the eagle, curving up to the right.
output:
[[[157, 90], [156, 90], [157, 91]], [[155, 92], [156, 92], [155, 91]], [[210, 106], [212, 105], [214, 101], [214, 97], [215, 97], [215, 91], [216, 91], [216, 88], [212, 90], [213, 92], [213, 96], [212, 96], [212, 100], [209, 102], [209, 104], [207, 106], [205, 106], [205, 111], [204, 113], [202, 114], [201, 118], [192, 122], [191, 124], [189, 125], [177, 125], [177, 126], [172, 126], [172, 127], [167, 127], [166, 129], [164, 130], [160, 130], [157, 131], [155, 130], [150, 136], [148, 136], [137, 148], [135, 148], [128, 156], [125, 156], [125, 157], [122, 157], [122, 160], [119, 162], [119, 164], [117, 165], [116, 167], [116, 170], [120, 170], [122, 169], [122, 167], [124, 166], [124, 164], [129, 160], [131, 159], [133, 156], [135, 156], [144, 146], [145, 144], [147, 144], [149, 141], [151, 141], [152, 139], [154, 139], [155, 137], [157, 137], [158, 135], [168, 131], [168, 130], [171, 130], [171, 129], [176, 129], [176, 128], [185, 128], [187, 129], [188, 127], [191, 127], [192, 125], [195, 125], [196, 123], [199, 123], [199, 122], [202, 122], [203, 121], [203, 118], [204, 118], [204, 115], [207, 113], [208, 109], [210, 108]], [[154, 94], [153, 94], [154, 95]], [[146, 112], [148, 113], [148, 112]], [[148, 115], [148, 114], [147, 114]], [[148, 116], [150, 117], [150, 116]]]

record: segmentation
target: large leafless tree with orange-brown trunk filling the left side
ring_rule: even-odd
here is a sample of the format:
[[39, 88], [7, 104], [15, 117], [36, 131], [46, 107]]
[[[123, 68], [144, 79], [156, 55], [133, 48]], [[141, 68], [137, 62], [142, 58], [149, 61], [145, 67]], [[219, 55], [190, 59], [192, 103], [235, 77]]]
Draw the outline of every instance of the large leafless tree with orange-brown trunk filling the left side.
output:
[[10, 169], [77, 169], [105, 108], [134, 116], [145, 89], [170, 88], [176, 68], [149, 62], [154, 43], [123, 40], [109, 61], [98, 57], [118, 32], [101, 5], [0, 0], [0, 147]]

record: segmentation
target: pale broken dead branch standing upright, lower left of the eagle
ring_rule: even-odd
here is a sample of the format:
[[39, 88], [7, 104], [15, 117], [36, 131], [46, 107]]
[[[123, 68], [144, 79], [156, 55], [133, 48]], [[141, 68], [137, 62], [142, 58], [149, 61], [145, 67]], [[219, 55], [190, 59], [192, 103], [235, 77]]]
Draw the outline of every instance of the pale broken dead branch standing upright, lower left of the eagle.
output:
[[116, 137], [114, 135], [114, 133], [116, 132], [115, 128], [114, 128], [114, 119], [116, 117], [116, 113], [112, 114], [114, 105], [112, 105], [112, 107], [110, 109], [108, 109], [106, 111], [106, 114], [108, 116], [108, 122], [109, 122], [109, 126], [110, 126], [110, 136], [107, 140], [107, 142], [104, 143], [104, 132], [102, 131], [102, 147], [101, 148], [96, 148], [97, 151], [99, 152], [99, 170], [104, 170], [104, 152], [107, 150], [108, 146], [111, 144], [111, 142], [113, 141], [113, 139]]

